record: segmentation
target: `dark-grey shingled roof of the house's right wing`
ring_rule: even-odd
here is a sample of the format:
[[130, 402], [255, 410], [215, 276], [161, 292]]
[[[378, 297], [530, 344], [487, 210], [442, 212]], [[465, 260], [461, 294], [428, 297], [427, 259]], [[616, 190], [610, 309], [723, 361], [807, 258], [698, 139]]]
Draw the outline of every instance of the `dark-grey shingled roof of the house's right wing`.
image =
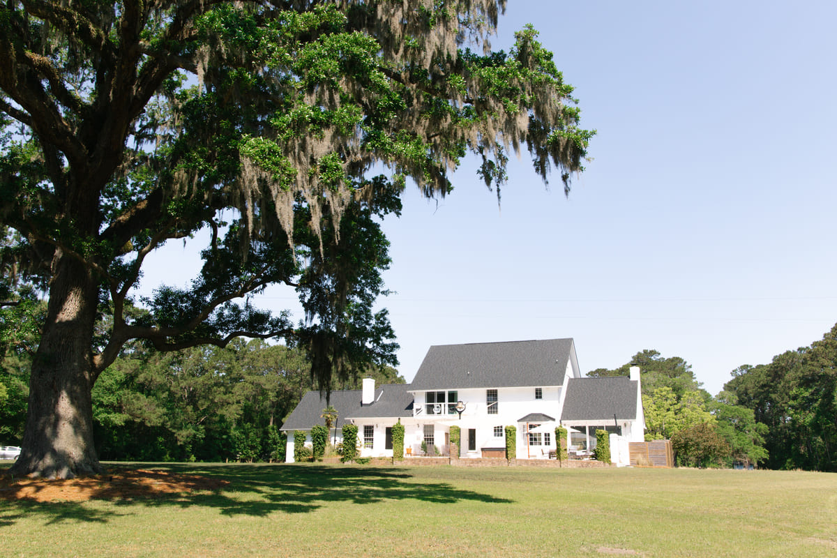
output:
[[567, 381], [562, 421], [635, 420], [639, 382], [628, 376], [571, 378]]

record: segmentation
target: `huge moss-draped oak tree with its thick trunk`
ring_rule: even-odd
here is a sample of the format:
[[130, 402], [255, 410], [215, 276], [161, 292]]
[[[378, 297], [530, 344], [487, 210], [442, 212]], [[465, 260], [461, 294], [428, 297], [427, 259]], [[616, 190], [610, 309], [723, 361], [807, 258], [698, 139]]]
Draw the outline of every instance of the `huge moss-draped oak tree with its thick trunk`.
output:
[[[14, 472], [100, 471], [91, 390], [131, 340], [283, 338], [309, 351], [326, 393], [334, 376], [393, 364], [388, 316], [369, 301], [388, 265], [376, 219], [398, 212], [407, 180], [444, 196], [472, 154], [499, 197], [521, 146], [565, 191], [583, 170], [593, 133], [537, 33], [484, 49], [504, 6], [4, 3], [0, 226], [48, 297]], [[192, 284], [127, 313], [147, 255], [201, 231]], [[250, 304], [270, 284], [299, 290], [303, 323]]]

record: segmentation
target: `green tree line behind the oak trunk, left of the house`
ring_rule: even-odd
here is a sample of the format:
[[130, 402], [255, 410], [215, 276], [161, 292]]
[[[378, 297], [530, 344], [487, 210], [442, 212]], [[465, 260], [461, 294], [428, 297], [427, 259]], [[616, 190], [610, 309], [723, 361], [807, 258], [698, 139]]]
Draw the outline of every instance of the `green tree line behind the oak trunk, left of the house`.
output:
[[[0, 367], [0, 441], [20, 443], [32, 357], [4, 347]], [[377, 383], [403, 383], [391, 366]], [[335, 380], [358, 389], [359, 379]], [[282, 423], [318, 389], [303, 351], [264, 340], [160, 352], [131, 347], [102, 372], [92, 391], [100, 458], [124, 461], [285, 460]]]

